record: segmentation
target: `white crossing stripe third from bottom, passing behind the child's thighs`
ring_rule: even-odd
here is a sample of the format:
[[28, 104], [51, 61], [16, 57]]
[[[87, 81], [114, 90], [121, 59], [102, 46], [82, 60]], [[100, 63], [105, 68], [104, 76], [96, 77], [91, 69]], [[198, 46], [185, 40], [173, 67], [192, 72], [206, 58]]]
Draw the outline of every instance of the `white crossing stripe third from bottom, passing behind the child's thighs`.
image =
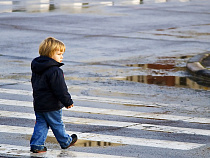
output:
[[[12, 118], [24, 118], [35, 120], [35, 115], [31, 113], [23, 112], [11, 112], [11, 111], [0, 111], [0, 117], [12, 117]], [[133, 122], [119, 122], [119, 121], [107, 121], [97, 119], [87, 119], [78, 117], [65, 117], [63, 116], [64, 123], [72, 124], [85, 124], [85, 125], [96, 125], [96, 126], [109, 126], [109, 127], [124, 127], [137, 130], [165, 132], [165, 133], [184, 133], [193, 135], [205, 135], [210, 136], [210, 130], [195, 129], [195, 128], [183, 128], [183, 127], [171, 127], [154, 124], [140, 124]]]

